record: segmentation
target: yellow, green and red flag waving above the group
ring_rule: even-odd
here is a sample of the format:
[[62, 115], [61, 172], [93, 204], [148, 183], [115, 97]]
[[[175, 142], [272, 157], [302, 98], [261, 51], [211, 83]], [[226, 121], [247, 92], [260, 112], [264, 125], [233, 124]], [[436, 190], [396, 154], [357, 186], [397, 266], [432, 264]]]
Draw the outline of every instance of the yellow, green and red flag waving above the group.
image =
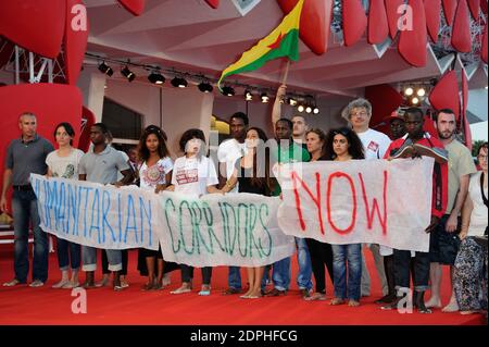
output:
[[293, 10], [268, 36], [261, 39], [250, 50], [242, 53], [234, 64], [227, 66], [221, 74], [217, 86], [230, 75], [250, 72], [262, 67], [267, 61], [280, 57], [299, 60], [299, 23], [304, 0], [299, 0]]

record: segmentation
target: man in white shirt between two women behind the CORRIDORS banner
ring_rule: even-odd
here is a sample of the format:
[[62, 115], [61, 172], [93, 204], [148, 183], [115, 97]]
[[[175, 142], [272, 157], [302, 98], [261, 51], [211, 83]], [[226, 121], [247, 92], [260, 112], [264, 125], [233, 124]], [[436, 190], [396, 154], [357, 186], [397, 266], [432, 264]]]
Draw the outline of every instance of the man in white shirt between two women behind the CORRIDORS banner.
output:
[[[230, 139], [223, 141], [217, 149], [220, 161], [220, 187], [233, 176], [235, 163], [244, 154], [244, 139], [247, 137], [249, 120], [242, 112], [236, 112], [229, 119]], [[238, 193], [238, 185], [229, 193]], [[229, 267], [228, 288], [223, 295], [233, 295], [241, 292], [241, 273], [239, 267]]]

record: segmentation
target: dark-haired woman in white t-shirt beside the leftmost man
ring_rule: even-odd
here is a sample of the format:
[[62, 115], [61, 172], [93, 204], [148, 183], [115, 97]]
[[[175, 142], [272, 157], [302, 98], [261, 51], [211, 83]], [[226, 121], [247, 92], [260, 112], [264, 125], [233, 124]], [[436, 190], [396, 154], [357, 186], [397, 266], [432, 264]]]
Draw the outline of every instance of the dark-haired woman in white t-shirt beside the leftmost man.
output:
[[[59, 146], [46, 158], [48, 177], [78, 179], [78, 163], [83, 151], [72, 147], [75, 131], [70, 123], [60, 123], [54, 128], [54, 138]], [[58, 237], [58, 262], [61, 270], [61, 281], [53, 288], [74, 288], [79, 285], [78, 271], [82, 259], [82, 249], [78, 244]], [[72, 268], [72, 277], [68, 270]]]

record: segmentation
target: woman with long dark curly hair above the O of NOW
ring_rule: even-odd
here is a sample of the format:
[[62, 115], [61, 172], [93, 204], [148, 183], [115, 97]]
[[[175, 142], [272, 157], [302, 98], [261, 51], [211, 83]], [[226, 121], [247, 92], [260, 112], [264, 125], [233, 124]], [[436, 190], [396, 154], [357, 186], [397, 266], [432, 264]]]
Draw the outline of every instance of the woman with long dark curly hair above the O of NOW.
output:
[[[364, 158], [362, 141], [352, 129], [331, 129], [326, 136], [325, 160], [350, 161]], [[348, 298], [348, 306], [356, 307], [361, 296], [362, 244], [331, 245], [331, 248], [335, 298], [330, 305], [344, 303]]]

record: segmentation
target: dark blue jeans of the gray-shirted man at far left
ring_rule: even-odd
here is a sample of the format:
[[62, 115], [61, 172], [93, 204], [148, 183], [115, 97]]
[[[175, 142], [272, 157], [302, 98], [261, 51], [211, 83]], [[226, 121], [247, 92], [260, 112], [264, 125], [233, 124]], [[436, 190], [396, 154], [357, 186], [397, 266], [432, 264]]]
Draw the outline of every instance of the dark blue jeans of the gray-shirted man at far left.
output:
[[33, 280], [48, 280], [48, 234], [39, 227], [39, 213], [34, 190], [14, 190], [12, 196], [14, 219], [14, 272], [21, 283], [27, 282], [29, 272], [29, 221], [34, 234]]

